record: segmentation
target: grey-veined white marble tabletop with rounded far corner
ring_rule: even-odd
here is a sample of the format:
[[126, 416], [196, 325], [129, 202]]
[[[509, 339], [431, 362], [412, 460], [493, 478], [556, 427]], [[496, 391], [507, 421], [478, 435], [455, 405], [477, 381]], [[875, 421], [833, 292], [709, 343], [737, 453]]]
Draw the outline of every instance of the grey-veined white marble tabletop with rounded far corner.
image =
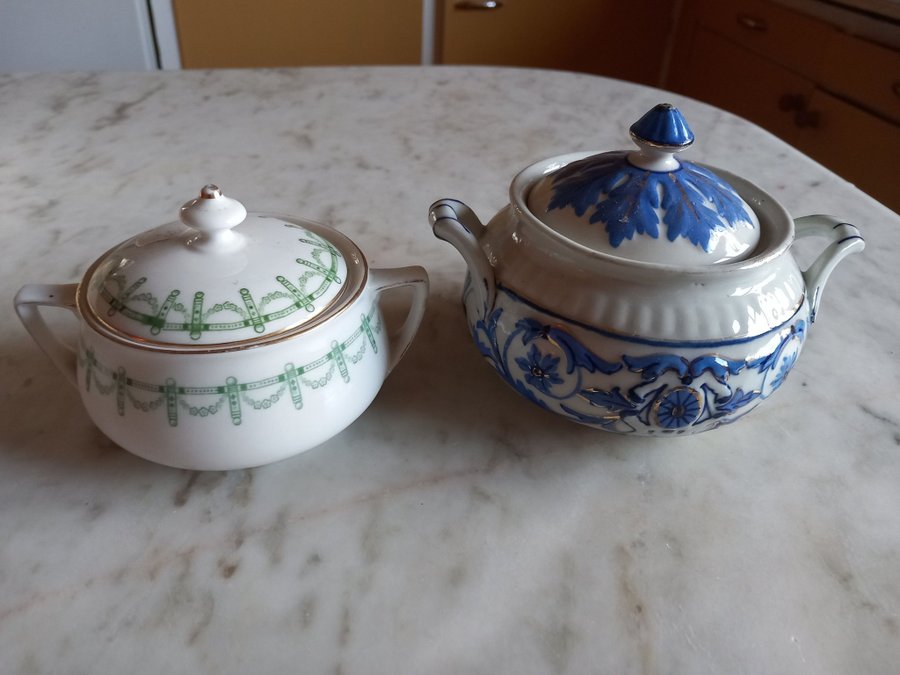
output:
[[[666, 440], [508, 390], [427, 223], [441, 197], [491, 216], [538, 159], [628, 147], [660, 100], [691, 158], [868, 242], [776, 398]], [[0, 672], [897, 672], [900, 218], [853, 185], [707, 105], [550, 71], [5, 75], [0, 119]], [[367, 412], [246, 471], [116, 447], [12, 310], [210, 181], [432, 283]]]

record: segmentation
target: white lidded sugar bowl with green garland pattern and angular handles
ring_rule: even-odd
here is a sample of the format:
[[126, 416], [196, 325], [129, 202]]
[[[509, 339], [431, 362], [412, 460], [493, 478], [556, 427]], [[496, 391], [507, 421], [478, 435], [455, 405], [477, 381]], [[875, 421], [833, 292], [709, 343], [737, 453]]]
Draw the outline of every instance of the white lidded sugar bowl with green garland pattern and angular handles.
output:
[[[404, 286], [409, 308], [388, 320], [386, 292]], [[15, 305], [113, 441], [160, 464], [225, 470], [290, 457], [353, 422], [427, 296], [421, 267], [372, 269], [340, 232], [248, 214], [208, 185], [180, 222], [119, 244], [79, 284], [23, 287]], [[42, 305], [80, 319], [74, 349]]]

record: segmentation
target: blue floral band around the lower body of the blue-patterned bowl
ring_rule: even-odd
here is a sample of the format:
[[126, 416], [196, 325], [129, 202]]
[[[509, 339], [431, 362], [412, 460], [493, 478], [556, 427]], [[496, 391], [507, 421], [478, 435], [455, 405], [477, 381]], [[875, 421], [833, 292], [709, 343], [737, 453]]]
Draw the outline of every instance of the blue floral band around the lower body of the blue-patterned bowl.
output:
[[[729, 358], [715, 344], [699, 354], [704, 350], [673, 345], [600, 355], [558, 320], [528, 317], [510, 326], [504, 311], [496, 307], [471, 325], [475, 344], [500, 376], [542, 408], [623, 433], [689, 433], [733, 422], [784, 383], [806, 336], [806, 321], [798, 318], [751, 359]], [[622, 340], [623, 350], [628, 344]]]

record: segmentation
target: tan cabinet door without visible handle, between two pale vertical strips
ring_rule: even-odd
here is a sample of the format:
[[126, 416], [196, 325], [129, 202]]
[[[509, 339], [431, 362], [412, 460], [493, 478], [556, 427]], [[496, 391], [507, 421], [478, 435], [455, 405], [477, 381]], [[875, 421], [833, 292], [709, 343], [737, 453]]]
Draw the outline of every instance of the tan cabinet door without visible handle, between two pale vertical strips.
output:
[[185, 68], [419, 63], [421, 0], [173, 0]]

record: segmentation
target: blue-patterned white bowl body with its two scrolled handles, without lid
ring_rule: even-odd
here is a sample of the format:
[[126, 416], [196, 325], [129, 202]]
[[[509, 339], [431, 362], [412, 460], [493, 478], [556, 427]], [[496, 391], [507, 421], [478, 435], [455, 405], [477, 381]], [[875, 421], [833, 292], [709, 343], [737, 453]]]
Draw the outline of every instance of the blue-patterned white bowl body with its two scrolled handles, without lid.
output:
[[[705, 266], [610, 255], [528, 206], [543, 176], [584, 156], [526, 168], [486, 226], [456, 200], [432, 206], [435, 235], [468, 263], [476, 346], [530, 402], [606, 431], [686, 434], [739, 419], [785, 382], [828, 275], [862, 237], [830, 216], [795, 224], [770, 195], [717, 169], [759, 219], [752, 255]], [[806, 270], [790, 251], [795, 235], [830, 240]]]

